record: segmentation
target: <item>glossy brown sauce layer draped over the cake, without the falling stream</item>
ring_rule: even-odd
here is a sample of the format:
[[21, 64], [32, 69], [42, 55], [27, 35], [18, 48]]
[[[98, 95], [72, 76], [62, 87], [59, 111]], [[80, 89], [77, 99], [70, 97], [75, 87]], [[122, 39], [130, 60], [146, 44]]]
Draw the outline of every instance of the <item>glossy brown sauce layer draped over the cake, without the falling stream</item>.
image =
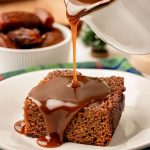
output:
[[77, 76], [79, 87], [72, 87], [72, 76], [56, 77], [31, 90], [28, 99], [39, 106], [46, 125], [45, 137], [37, 143], [56, 147], [63, 143], [64, 131], [73, 116], [86, 105], [101, 101], [110, 88], [99, 78]]

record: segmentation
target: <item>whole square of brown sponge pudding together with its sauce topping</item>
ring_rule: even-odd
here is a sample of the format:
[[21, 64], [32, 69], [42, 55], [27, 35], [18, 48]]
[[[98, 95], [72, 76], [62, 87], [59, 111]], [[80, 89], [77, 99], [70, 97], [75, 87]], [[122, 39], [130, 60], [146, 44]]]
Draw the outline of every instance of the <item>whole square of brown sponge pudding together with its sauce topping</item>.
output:
[[108, 145], [124, 109], [124, 79], [78, 73], [80, 87], [72, 88], [72, 76], [69, 70], [50, 72], [31, 90], [24, 102], [24, 134], [44, 147], [65, 141]]

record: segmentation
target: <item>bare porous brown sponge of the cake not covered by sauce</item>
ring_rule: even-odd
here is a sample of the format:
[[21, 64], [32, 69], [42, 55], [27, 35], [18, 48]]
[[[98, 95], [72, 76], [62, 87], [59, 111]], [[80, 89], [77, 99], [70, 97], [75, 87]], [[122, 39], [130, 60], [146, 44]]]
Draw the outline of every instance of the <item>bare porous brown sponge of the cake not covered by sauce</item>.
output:
[[[40, 84], [58, 76], [72, 74], [73, 72], [69, 70], [50, 72]], [[124, 109], [124, 79], [113, 76], [101, 80], [110, 86], [111, 93], [103, 101], [84, 107], [73, 117], [65, 130], [65, 141], [101, 146], [110, 143]], [[26, 135], [32, 137], [45, 135], [46, 127], [38, 106], [28, 98], [24, 105]]]

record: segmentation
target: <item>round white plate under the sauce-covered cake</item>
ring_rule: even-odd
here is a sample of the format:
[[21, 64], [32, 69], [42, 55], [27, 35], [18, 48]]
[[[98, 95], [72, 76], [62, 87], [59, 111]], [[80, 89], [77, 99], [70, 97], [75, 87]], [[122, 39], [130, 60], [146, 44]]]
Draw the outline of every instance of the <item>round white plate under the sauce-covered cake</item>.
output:
[[[123, 76], [127, 91], [126, 106], [111, 144], [107, 147], [65, 143], [54, 150], [122, 150], [150, 146], [150, 80], [130, 73], [109, 70], [79, 70], [89, 76]], [[14, 131], [23, 118], [27, 93], [49, 71], [16, 76], [0, 82], [0, 147], [8, 150], [42, 150], [36, 139]]]

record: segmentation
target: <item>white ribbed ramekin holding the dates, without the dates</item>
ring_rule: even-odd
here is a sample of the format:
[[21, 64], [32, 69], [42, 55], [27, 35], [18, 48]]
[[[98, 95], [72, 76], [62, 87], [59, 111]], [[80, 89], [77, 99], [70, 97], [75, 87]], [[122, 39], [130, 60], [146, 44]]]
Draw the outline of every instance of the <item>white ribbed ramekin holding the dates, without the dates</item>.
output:
[[54, 24], [54, 27], [60, 29], [65, 37], [64, 41], [56, 45], [23, 50], [0, 47], [0, 73], [38, 65], [68, 62], [71, 45], [70, 30], [57, 23]]

